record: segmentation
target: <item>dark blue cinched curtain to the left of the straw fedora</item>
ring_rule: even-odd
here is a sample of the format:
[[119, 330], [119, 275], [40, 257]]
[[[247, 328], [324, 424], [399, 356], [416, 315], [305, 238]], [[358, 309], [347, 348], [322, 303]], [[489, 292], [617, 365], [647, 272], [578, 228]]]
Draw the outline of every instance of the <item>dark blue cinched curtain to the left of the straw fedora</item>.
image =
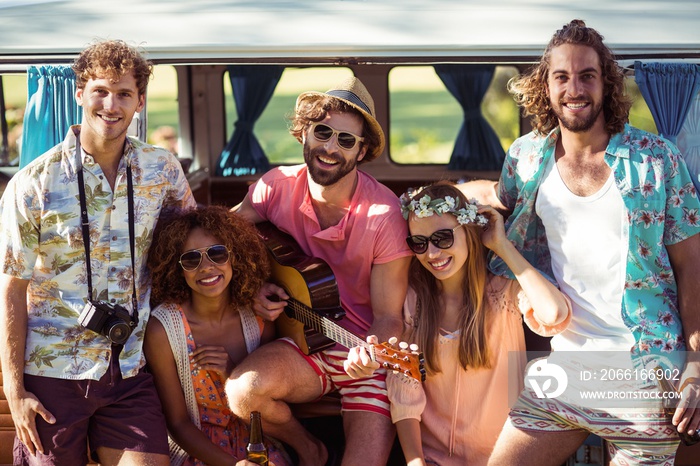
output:
[[238, 121], [231, 140], [219, 156], [216, 176], [254, 175], [270, 168], [253, 126], [272, 98], [283, 71], [283, 66], [276, 65], [228, 67]]

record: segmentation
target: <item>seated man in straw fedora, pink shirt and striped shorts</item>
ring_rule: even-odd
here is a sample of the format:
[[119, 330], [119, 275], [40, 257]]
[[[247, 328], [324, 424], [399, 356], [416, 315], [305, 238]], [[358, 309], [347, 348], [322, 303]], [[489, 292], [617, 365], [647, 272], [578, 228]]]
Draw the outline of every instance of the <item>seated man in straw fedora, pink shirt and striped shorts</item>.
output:
[[[304, 146], [304, 164], [275, 168], [234, 211], [289, 233], [305, 254], [323, 259], [338, 283], [346, 312], [341, 325], [382, 340], [402, 332], [402, 305], [411, 251], [396, 195], [358, 165], [384, 150], [384, 132], [365, 86], [350, 78], [327, 92], [304, 92], [290, 133]], [[280, 300], [269, 299], [276, 295]], [[269, 284], [256, 312], [274, 320], [289, 296]], [[260, 347], [226, 384], [233, 412], [261, 411], [265, 432], [292, 446], [302, 465], [328, 462], [326, 447], [306, 431], [287, 403], [308, 402], [334, 390], [342, 400], [344, 465], [384, 465], [393, 443], [384, 371], [364, 353], [345, 371], [340, 345], [305, 355], [291, 340]], [[373, 368], [372, 367], [372, 368]], [[366, 371], [365, 371], [366, 370]], [[369, 454], [368, 454], [369, 453]]]

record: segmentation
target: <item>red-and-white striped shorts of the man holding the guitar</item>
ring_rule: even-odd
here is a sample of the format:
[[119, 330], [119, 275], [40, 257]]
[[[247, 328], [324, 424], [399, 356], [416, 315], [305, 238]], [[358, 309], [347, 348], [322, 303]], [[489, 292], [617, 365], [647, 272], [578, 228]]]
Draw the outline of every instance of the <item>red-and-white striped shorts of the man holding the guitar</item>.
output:
[[343, 367], [343, 362], [348, 358], [347, 351], [329, 349], [307, 355], [289, 338], [278, 341], [296, 348], [316, 371], [323, 386], [321, 396], [336, 390], [340, 393], [343, 411], [368, 411], [391, 417], [386, 393], [386, 369], [379, 368], [371, 377], [353, 379]]

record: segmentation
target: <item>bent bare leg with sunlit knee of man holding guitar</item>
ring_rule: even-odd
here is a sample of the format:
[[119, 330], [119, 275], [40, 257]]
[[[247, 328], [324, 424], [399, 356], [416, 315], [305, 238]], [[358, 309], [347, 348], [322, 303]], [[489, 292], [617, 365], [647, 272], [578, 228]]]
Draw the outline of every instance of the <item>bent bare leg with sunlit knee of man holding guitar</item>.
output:
[[292, 414], [287, 403], [313, 401], [321, 395], [318, 374], [284, 342], [271, 342], [248, 355], [226, 382], [231, 410], [246, 422], [260, 411], [265, 434], [290, 445], [301, 466], [323, 466], [328, 452]]

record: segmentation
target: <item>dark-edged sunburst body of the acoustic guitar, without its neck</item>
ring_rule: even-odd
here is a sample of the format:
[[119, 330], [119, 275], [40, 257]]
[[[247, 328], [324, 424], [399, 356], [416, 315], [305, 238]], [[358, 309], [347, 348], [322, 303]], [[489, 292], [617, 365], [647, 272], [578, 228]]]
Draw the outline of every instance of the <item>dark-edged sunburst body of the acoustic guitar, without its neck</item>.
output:
[[[272, 259], [272, 281], [284, 288], [289, 296], [324, 317], [341, 319], [345, 311], [340, 307], [338, 283], [328, 264], [305, 255], [291, 236], [270, 222], [259, 223], [256, 227]], [[288, 313], [280, 315], [275, 325], [279, 336], [293, 339], [305, 354], [323, 351], [336, 344]]]

